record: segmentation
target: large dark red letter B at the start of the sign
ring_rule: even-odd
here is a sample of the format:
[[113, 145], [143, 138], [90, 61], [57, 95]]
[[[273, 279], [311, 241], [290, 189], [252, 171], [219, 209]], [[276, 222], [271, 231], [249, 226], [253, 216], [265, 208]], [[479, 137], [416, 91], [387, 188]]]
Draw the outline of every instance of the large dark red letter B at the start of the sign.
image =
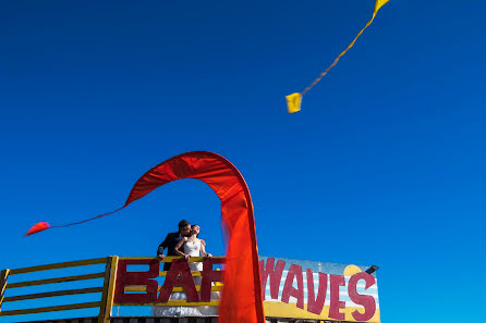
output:
[[[129, 264], [148, 264], [148, 272], [129, 272]], [[149, 303], [157, 299], [159, 284], [156, 278], [159, 275], [159, 261], [151, 260], [119, 260], [117, 283], [114, 289], [116, 303]], [[125, 286], [147, 286], [146, 294], [125, 294]]]

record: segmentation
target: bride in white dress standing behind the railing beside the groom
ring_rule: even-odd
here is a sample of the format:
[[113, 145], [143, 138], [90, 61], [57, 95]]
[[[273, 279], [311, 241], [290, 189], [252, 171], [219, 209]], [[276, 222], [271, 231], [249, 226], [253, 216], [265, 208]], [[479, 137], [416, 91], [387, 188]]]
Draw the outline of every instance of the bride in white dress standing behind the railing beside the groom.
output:
[[[197, 224], [193, 224], [191, 226], [191, 235], [189, 237], [184, 237], [179, 241], [175, 246], [175, 253], [185, 258], [185, 260], [190, 260], [191, 257], [212, 257], [211, 253], [206, 252], [206, 243], [199, 239], [197, 236], [199, 235], [199, 226]], [[181, 251], [180, 249], [183, 249]], [[203, 263], [202, 262], [190, 262], [189, 268], [191, 271], [202, 271]], [[194, 277], [194, 283], [196, 286], [201, 286], [201, 276]], [[185, 293], [172, 293], [171, 300], [185, 300]], [[211, 299], [219, 299], [219, 293], [211, 293]], [[153, 315], [154, 316], [207, 316], [207, 315], [217, 315], [218, 308], [217, 307], [153, 307]]]

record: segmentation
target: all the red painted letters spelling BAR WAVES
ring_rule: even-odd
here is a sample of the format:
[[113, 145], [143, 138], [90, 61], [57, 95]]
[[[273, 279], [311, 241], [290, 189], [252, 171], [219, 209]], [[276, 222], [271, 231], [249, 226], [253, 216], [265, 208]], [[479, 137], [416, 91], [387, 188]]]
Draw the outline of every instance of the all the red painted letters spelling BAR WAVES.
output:
[[[279, 286], [282, 282], [282, 273], [285, 268], [283, 260], [278, 260], [275, 263], [275, 258], [268, 258], [267, 262], [262, 260], [259, 262], [262, 271], [262, 288], [265, 289], [267, 282], [270, 285], [270, 294], [272, 299], [279, 299]], [[155, 303], [167, 302], [173, 288], [180, 286], [187, 295], [187, 301], [210, 301], [211, 286], [215, 282], [221, 282], [223, 278], [223, 272], [214, 270], [215, 264], [223, 263], [224, 259], [208, 258], [203, 261], [201, 293], [197, 294], [194, 285], [193, 276], [189, 264], [183, 259], [177, 259], [172, 262], [172, 265], [166, 276], [165, 284], [157, 297], [158, 284], [155, 278], [159, 274], [159, 261], [157, 260], [120, 260], [119, 270], [117, 275], [117, 288], [114, 295], [116, 303]], [[148, 264], [148, 271], [127, 271], [127, 265], [132, 264]], [[296, 307], [304, 309], [304, 288], [307, 288], [307, 308], [311, 313], [320, 315], [326, 301], [327, 289], [330, 289], [330, 306], [329, 306], [329, 319], [344, 320], [345, 302], [340, 300], [340, 288], [345, 286], [345, 279], [342, 275], [328, 275], [326, 273], [318, 273], [318, 287], [317, 290], [314, 287], [314, 273], [311, 269], [306, 269], [305, 274], [307, 284], [303, 284], [302, 266], [291, 264], [288, 275], [284, 281], [283, 290], [281, 293], [280, 300], [289, 303], [290, 297], [296, 299]], [[357, 283], [364, 279], [365, 289], [376, 284], [376, 278], [367, 273], [356, 273], [350, 277], [347, 289], [351, 300], [364, 307], [364, 313], [360, 311], [353, 311], [352, 315], [354, 320], [364, 322], [370, 320], [376, 313], [376, 301], [373, 296], [361, 295], [357, 293]], [[329, 287], [328, 287], [329, 281]], [[143, 285], [147, 286], [146, 294], [125, 294], [125, 286]], [[297, 287], [295, 288], [294, 285]]]

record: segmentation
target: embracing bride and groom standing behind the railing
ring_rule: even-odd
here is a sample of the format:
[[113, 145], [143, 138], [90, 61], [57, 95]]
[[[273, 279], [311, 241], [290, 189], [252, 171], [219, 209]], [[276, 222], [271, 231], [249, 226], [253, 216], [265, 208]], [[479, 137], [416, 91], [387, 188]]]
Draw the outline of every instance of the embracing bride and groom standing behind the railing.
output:
[[[211, 257], [210, 253], [206, 253], [206, 243], [198, 238], [199, 226], [197, 224], [191, 225], [186, 220], [179, 222], [179, 232], [170, 233], [166, 239], [159, 245], [157, 249], [157, 257], [160, 259], [166, 258], [163, 250], [167, 249], [167, 256], [182, 256], [185, 260], [191, 257]], [[190, 269], [192, 271], [202, 271], [202, 262], [191, 262]], [[163, 270], [170, 269], [170, 262], [163, 263]]]

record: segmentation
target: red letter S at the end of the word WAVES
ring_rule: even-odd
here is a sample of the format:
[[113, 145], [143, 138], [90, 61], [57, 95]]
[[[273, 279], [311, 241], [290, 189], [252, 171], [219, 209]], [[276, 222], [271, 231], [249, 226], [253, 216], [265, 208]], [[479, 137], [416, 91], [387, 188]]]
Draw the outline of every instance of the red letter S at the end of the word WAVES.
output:
[[348, 293], [352, 301], [357, 305], [362, 305], [365, 308], [365, 312], [362, 314], [359, 311], [354, 311], [352, 313], [354, 320], [356, 321], [368, 321], [375, 315], [376, 311], [376, 302], [375, 298], [370, 295], [361, 295], [357, 294], [356, 285], [357, 281], [365, 279], [366, 286], [365, 289], [368, 289], [370, 286], [375, 285], [375, 277], [368, 273], [357, 273], [351, 276]]

